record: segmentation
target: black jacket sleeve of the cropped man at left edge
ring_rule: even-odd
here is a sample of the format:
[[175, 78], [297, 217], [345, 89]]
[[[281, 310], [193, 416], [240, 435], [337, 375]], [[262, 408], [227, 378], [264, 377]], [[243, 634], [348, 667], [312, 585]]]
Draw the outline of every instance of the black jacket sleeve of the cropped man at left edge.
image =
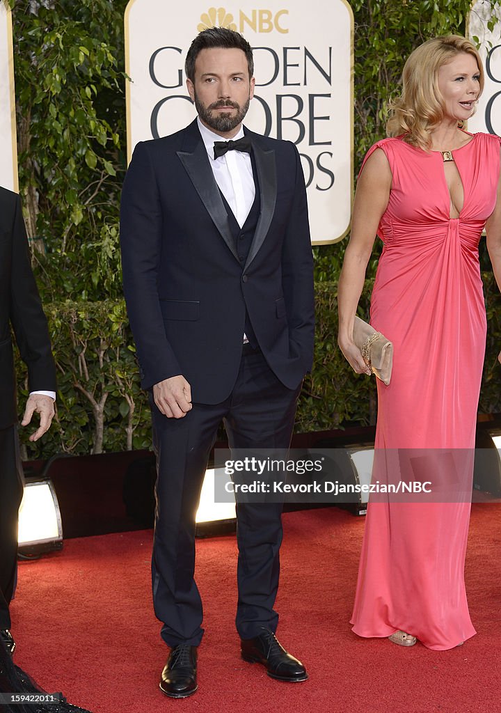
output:
[[56, 391], [56, 368], [51, 352], [47, 319], [43, 313], [33, 271], [28, 239], [16, 195], [12, 226], [10, 320], [21, 359], [28, 366], [30, 391]]

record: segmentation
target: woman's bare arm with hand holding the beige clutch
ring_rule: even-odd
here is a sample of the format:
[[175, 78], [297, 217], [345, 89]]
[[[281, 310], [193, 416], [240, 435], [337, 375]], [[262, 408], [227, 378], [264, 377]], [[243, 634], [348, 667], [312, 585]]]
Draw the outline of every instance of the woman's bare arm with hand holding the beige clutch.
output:
[[353, 322], [379, 221], [390, 198], [391, 180], [388, 159], [383, 150], [378, 149], [369, 156], [358, 177], [350, 242], [346, 248], [343, 270], [339, 277], [338, 344], [357, 374], [371, 374], [371, 369], [363, 360], [360, 349], [353, 343]]

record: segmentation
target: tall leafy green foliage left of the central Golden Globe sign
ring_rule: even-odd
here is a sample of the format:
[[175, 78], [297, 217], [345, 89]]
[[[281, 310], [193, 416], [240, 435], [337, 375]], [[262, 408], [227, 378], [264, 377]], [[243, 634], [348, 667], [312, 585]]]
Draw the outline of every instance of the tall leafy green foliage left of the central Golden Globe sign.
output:
[[120, 296], [125, 0], [16, 0], [19, 183], [45, 300]]

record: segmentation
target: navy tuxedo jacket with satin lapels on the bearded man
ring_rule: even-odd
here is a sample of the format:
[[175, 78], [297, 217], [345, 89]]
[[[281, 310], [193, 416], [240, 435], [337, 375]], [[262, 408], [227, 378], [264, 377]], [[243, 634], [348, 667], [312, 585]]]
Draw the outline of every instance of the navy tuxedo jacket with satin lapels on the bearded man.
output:
[[123, 185], [123, 287], [142, 385], [182, 374], [192, 401], [229, 396], [246, 310], [271, 369], [295, 389], [311, 369], [314, 287], [306, 188], [294, 144], [252, 139], [260, 214], [241, 264], [197, 121], [138, 143]]

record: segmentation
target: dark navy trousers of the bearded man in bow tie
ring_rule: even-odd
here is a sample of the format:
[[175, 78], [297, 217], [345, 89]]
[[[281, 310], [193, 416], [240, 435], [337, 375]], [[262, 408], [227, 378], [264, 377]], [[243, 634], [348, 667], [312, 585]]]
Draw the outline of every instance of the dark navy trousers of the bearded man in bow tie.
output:
[[[195, 514], [217, 428], [224, 421], [230, 448], [288, 448], [297, 389], [287, 389], [259, 351], [244, 347], [232, 394], [221, 404], [193, 404], [182, 419], [167, 419], [152, 402], [157, 456], [153, 603], [170, 646], [199, 645], [202, 601], [195, 583]], [[282, 503], [237, 505], [237, 631], [250, 639], [278, 624]]]

